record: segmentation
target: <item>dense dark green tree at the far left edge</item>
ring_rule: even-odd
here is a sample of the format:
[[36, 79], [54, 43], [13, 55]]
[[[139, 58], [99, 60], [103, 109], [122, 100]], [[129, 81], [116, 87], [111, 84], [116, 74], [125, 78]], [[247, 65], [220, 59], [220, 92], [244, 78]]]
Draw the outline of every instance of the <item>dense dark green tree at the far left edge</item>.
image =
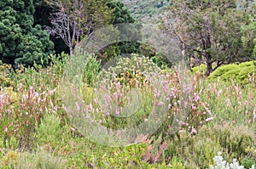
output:
[[39, 25], [33, 27], [32, 0], [0, 2], [0, 59], [8, 64], [47, 64], [54, 44]]

